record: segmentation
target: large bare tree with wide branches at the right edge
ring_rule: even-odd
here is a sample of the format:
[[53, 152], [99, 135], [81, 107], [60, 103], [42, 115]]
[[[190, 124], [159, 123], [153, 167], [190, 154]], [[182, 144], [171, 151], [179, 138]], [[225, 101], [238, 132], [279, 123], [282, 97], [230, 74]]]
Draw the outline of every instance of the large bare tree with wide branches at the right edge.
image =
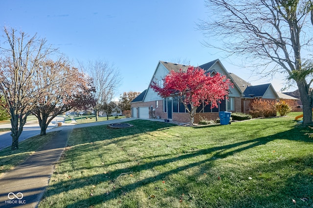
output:
[[243, 57], [264, 76], [282, 73], [295, 81], [303, 123], [311, 123], [313, 70], [305, 55], [312, 51], [312, 1], [206, 0], [206, 6], [210, 17], [198, 24], [204, 44]]

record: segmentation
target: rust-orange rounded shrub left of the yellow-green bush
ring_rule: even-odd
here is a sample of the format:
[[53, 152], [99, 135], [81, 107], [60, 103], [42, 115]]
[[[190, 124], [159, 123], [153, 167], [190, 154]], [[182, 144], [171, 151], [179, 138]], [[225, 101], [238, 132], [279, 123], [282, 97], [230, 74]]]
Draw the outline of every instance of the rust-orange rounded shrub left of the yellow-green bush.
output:
[[275, 102], [254, 98], [251, 103], [250, 114], [253, 118], [276, 116]]

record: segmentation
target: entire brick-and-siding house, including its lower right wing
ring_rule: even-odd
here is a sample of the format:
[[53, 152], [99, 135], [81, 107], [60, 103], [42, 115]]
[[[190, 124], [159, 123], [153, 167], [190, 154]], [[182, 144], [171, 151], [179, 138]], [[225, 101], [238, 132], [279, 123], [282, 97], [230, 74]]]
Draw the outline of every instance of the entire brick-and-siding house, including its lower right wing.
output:
[[[189, 113], [184, 105], [179, 102], [178, 97], [161, 97], [152, 88], [152, 82], [162, 84], [162, 79], [172, 70], [178, 72], [180, 69], [186, 71], [189, 66], [166, 61], [157, 63], [155, 72], [151, 78], [148, 89], [144, 90], [131, 102], [131, 116], [135, 118], [164, 118], [179, 122], [189, 122]], [[195, 122], [199, 116], [207, 119], [216, 119], [220, 111], [248, 113], [250, 101], [254, 98], [280, 100], [271, 84], [252, 86], [240, 77], [228, 73], [219, 59], [210, 61], [199, 66], [207, 73], [214, 75], [220, 73], [225, 75], [234, 84], [229, 89], [228, 99], [221, 100], [218, 108], [210, 105], [200, 106], [195, 115]]]

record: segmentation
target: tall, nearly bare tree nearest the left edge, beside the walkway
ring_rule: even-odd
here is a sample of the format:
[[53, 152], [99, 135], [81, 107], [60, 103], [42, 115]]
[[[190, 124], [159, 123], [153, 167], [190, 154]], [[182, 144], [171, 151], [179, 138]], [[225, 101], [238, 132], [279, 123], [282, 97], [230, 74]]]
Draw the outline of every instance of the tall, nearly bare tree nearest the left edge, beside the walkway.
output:
[[36, 80], [38, 66], [54, 50], [46, 40], [29, 37], [13, 28], [4, 28], [0, 47], [0, 94], [11, 116], [12, 150], [19, 149], [19, 137], [27, 116], [36, 108], [37, 100], [45, 95]]

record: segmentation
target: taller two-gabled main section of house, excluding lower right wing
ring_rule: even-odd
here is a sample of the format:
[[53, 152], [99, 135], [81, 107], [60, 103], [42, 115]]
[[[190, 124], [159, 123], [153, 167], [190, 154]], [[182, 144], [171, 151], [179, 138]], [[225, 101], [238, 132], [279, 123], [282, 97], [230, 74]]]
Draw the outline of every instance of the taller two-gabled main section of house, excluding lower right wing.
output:
[[[179, 122], [189, 122], [189, 113], [186, 112], [183, 104], [179, 102], [178, 97], [163, 98], [157, 95], [157, 93], [151, 88], [152, 82], [156, 82], [159, 85], [162, 84], [162, 79], [170, 71], [174, 70], [178, 72], [179, 69], [187, 70], [188, 67], [189, 66], [187, 65], [159, 61], [148, 89], [143, 91], [131, 102], [132, 117], [164, 118]], [[219, 59], [203, 64], [199, 67], [212, 75], [220, 73], [232, 80]], [[197, 111], [195, 116], [195, 122], [199, 121], [199, 115], [207, 117], [208, 119], [216, 119], [219, 117], [220, 111], [241, 111], [241, 97], [242, 92], [238, 86], [236, 86], [236, 83], [234, 83], [234, 88], [229, 89], [228, 100], [222, 100], [219, 104], [219, 108], [211, 109], [209, 105], [205, 106], [202, 111], [202, 108], [198, 108], [199, 111]]]

